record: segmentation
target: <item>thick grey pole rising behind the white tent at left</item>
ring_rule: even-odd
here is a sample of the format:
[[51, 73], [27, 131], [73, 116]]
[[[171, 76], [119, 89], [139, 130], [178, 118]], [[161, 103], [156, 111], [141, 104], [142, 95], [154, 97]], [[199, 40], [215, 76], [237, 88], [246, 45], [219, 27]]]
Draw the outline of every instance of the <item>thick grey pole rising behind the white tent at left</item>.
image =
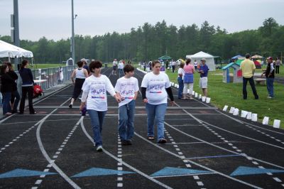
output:
[[[18, 26], [18, 0], [13, 0], [13, 27], [14, 27], [14, 45], [20, 47], [20, 35]], [[18, 70], [18, 57], [14, 60], [15, 70]]]

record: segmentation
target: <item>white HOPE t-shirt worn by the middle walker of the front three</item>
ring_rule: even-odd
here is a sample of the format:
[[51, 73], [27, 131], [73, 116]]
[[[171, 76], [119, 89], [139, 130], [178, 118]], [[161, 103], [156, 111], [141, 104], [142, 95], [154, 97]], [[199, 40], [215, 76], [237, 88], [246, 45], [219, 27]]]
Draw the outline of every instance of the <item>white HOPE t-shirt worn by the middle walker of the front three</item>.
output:
[[135, 77], [121, 77], [117, 80], [114, 90], [124, 97], [124, 100], [119, 103], [119, 107], [121, 107], [133, 100], [135, 92], [139, 90], [138, 80]]

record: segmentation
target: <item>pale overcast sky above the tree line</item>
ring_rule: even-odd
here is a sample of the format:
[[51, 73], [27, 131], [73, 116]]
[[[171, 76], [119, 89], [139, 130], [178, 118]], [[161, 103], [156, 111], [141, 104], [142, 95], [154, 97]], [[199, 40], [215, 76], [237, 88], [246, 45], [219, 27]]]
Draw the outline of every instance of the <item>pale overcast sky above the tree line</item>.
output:
[[[71, 0], [18, 0], [20, 38], [45, 36], [55, 41], [71, 36]], [[284, 0], [74, 0], [75, 34], [130, 32], [158, 21], [178, 28], [204, 21], [229, 33], [256, 29], [265, 18], [284, 25]], [[11, 35], [13, 0], [0, 0], [0, 35]]]

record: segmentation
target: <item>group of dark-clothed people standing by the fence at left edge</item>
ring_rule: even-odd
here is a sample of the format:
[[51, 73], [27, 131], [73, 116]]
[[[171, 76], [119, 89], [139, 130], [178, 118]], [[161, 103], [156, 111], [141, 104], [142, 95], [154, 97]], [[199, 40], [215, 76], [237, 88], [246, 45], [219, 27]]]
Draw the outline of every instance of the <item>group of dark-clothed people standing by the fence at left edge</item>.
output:
[[[3, 96], [3, 114], [9, 116], [11, 114], [23, 114], [26, 97], [28, 95], [28, 108], [30, 114], [36, 114], [33, 109], [33, 74], [31, 69], [28, 68], [28, 60], [23, 60], [21, 68], [18, 71], [21, 76], [21, 97], [18, 93], [17, 80], [18, 75], [13, 71], [11, 63], [6, 62], [1, 65], [1, 93]], [[21, 99], [21, 102], [20, 102]], [[20, 102], [18, 112], [18, 102]]]

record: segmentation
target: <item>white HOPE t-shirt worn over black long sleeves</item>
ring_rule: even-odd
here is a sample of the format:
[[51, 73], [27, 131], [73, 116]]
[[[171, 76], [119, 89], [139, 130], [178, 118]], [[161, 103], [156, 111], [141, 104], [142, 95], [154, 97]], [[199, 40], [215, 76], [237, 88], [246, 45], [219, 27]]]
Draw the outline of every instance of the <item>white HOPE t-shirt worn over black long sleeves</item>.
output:
[[146, 87], [146, 98], [149, 104], [164, 104], [168, 102], [168, 93], [165, 90], [170, 87], [168, 75], [160, 72], [159, 75], [153, 72], [147, 73], [142, 80], [141, 87]]

